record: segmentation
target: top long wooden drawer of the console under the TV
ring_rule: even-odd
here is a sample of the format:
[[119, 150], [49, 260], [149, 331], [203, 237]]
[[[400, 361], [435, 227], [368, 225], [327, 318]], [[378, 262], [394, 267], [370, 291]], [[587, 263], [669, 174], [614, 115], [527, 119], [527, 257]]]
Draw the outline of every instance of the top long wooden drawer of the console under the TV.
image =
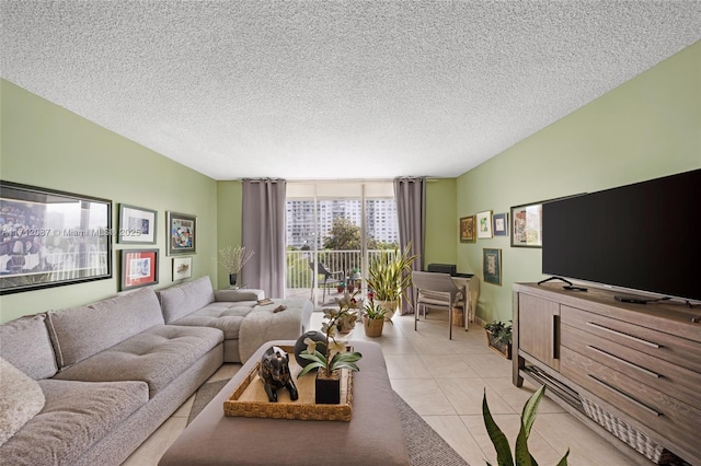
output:
[[606, 317], [566, 305], [560, 306], [560, 322], [655, 358], [701, 373], [701, 342], [665, 334], [658, 329]]

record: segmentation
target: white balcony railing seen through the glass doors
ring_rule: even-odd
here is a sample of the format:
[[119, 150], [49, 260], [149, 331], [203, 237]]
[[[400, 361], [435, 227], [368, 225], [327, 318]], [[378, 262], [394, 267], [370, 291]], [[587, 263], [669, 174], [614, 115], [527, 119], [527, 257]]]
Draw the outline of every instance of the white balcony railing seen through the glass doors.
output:
[[[368, 251], [368, 264], [379, 257], [381, 249]], [[393, 254], [393, 251], [389, 251]], [[357, 269], [363, 277], [367, 277], [363, 268], [363, 253], [356, 251], [330, 251], [318, 252], [319, 263], [323, 264], [329, 271], [344, 271], [349, 275], [353, 269]], [[313, 260], [311, 251], [288, 251], [287, 252], [287, 289], [310, 289], [313, 282], [312, 269], [309, 263]]]

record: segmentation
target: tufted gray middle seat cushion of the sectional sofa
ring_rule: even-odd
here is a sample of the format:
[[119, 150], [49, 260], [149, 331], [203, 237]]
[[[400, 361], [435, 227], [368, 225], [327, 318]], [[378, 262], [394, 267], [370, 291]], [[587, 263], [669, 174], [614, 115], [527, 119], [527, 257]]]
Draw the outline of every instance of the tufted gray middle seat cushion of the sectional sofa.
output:
[[214, 328], [159, 325], [59, 372], [55, 378], [143, 381], [153, 398], [222, 341], [223, 334]]

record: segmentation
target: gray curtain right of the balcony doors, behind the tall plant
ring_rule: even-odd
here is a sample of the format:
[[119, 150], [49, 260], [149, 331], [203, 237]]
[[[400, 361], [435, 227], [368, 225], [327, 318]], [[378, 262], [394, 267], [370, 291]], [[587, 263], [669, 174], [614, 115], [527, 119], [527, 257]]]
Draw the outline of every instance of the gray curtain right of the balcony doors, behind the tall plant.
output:
[[[418, 255], [413, 269], [424, 269], [424, 246], [426, 236], [426, 178], [400, 177], [394, 178], [394, 199], [397, 201], [397, 217], [399, 218], [399, 243], [404, 251], [412, 244], [412, 254]], [[411, 303], [416, 302], [416, 290], [412, 287], [406, 291]], [[414, 312], [407, 300], [402, 300], [402, 314]]]

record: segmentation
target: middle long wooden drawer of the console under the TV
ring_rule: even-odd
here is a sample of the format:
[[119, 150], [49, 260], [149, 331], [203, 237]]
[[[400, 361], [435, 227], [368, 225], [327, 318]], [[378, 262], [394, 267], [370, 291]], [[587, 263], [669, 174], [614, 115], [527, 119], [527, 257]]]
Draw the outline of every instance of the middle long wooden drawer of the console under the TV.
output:
[[561, 345], [631, 378], [701, 409], [701, 374], [568, 325]]

